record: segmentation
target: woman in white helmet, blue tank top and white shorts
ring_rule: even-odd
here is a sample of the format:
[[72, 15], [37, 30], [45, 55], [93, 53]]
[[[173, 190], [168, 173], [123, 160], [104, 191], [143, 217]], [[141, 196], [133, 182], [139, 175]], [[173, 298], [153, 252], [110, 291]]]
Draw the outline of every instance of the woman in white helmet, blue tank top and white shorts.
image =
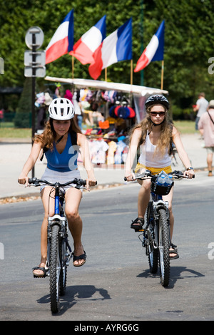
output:
[[[93, 167], [91, 165], [88, 140], [81, 133], [74, 121], [74, 108], [70, 100], [56, 98], [49, 105], [49, 120], [44, 128], [44, 133], [36, 135], [31, 153], [26, 161], [18, 182], [27, 184], [28, 174], [39, 158], [41, 150], [46, 155], [47, 168], [41, 179], [49, 182], [67, 182], [73, 178], [80, 178], [77, 166], [78, 148], [81, 149], [81, 158], [88, 175], [87, 188], [96, 185]], [[77, 147], [76, 147], [77, 146]], [[41, 225], [41, 269], [34, 270], [36, 277], [44, 277], [42, 270], [46, 263], [47, 252], [47, 224], [51, 210], [54, 210], [54, 200], [49, 204], [49, 193], [51, 187], [41, 187], [41, 200], [44, 205], [44, 220]], [[68, 227], [73, 237], [73, 265], [80, 267], [86, 262], [86, 252], [81, 243], [82, 220], [78, 214], [78, 207], [81, 202], [82, 192], [72, 185], [66, 188], [66, 216]]]

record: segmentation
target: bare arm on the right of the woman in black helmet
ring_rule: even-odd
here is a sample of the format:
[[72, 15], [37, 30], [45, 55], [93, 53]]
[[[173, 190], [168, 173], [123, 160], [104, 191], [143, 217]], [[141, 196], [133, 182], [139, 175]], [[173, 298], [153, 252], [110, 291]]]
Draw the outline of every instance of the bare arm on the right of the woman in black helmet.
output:
[[[178, 152], [178, 156], [181, 162], [183, 163], [183, 165], [185, 166], [185, 169], [190, 168], [191, 166], [190, 159], [188, 158], [188, 154], [183, 148], [183, 143], [180, 139], [180, 134], [178, 133], [178, 130], [175, 127], [173, 127], [173, 143], [175, 144], [175, 148]], [[188, 175], [190, 178], [192, 178], [194, 174], [195, 173], [193, 170], [188, 170], [188, 171], [185, 170], [185, 175]]]

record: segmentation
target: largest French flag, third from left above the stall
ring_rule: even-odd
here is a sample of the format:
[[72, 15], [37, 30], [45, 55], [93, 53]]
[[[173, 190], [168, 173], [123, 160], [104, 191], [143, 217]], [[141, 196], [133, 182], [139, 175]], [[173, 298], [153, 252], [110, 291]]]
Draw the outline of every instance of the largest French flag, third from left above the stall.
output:
[[93, 79], [101, 76], [103, 68], [118, 61], [132, 59], [132, 18], [103, 40], [93, 53], [93, 63], [88, 68]]

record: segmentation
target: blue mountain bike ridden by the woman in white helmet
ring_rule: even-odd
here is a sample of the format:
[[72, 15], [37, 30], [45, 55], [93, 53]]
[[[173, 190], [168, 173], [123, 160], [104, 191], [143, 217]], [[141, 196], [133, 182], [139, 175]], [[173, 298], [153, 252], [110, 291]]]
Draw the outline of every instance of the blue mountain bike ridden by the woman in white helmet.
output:
[[55, 191], [54, 215], [48, 219], [48, 247], [44, 277], [50, 277], [51, 311], [57, 313], [60, 306], [59, 297], [66, 293], [67, 267], [73, 257], [71, 247], [68, 243], [68, 223], [63, 210], [65, 200], [65, 190], [63, 187], [75, 184], [76, 188], [81, 189], [83, 185], [86, 185], [86, 180], [75, 178], [61, 184], [59, 182], [51, 183], [34, 177], [29, 179], [29, 184], [36, 187], [44, 184], [52, 186], [53, 189], [49, 197]]

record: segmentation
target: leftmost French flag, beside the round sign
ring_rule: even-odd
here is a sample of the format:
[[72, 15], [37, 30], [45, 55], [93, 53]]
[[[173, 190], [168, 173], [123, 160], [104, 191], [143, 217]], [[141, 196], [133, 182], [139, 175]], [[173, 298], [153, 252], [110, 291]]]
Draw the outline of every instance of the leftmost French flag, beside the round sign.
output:
[[63, 19], [46, 48], [46, 64], [73, 50], [73, 9]]

